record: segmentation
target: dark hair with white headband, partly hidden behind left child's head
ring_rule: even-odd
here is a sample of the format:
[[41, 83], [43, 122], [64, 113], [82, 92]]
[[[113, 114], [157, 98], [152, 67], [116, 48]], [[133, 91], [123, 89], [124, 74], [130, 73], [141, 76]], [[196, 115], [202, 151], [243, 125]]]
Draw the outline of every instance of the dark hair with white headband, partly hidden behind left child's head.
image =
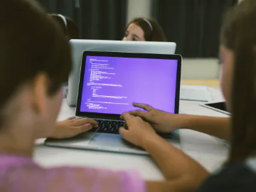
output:
[[62, 15], [60, 14], [50, 14], [55, 21], [58, 22], [60, 25], [60, 28], [62, 29], [63, 33], [68, 36], [68, 40], [70, 39], [78, 39], [79, 38], [79, 31], [78, 31], [78, 26], [75, 25], [75, 22], [71, 20], [70, 18], [65, 17], [65, 21], [67, 22], [65, 25], [65, 21], [63, 21]]

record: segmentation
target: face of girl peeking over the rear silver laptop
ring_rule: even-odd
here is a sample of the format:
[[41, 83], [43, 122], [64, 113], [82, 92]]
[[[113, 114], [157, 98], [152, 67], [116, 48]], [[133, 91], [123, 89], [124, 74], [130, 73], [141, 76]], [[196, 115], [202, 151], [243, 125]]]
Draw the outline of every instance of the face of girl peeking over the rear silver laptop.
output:
[[122, 41], [146, 41], [144, 38], [144, 31], [135, 23], [129, 24], [127, 31], [125, 31]]

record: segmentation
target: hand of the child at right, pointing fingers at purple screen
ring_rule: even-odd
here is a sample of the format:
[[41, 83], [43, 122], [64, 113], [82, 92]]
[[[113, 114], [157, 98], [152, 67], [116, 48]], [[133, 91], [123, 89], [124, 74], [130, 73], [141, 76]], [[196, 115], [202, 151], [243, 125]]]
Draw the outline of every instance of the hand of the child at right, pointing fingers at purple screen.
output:
[[176, 129], [181, 128], [181, 122], [183, 122], [183, 115], [182, 114], [169, 114], [167, 112], [163, 112], [160, 110], [156, 110], [149, 105], [144, 104], [133, 104], [134, 107], [139, 107], [142, 110], [136, 110], [129, 112], [134, 116], [142, 117], [142, 119], [149, 122], [151, 126], [156, 130], [156, 132], [161, 133], [170, 133]]

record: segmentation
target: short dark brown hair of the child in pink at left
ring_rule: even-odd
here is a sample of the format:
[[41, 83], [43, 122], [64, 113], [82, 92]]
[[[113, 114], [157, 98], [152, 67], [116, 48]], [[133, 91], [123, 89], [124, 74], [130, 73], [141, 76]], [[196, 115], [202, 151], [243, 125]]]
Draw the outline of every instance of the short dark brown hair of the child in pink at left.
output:
[[49, 95], [71, 70], [70, 47], [60, 27], [32, 0], [0, 1], [0, 126], [4, 107], [21, 85], [48, 75]]

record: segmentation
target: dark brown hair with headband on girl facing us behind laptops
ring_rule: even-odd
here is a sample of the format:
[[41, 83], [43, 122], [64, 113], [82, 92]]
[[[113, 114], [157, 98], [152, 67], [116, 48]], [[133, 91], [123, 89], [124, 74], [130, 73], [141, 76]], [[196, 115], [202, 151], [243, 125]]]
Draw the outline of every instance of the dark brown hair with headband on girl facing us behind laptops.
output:
[[167, 41], [163, 28], [161, 28], [156, 20], [150, 18], [134, 18], [127, 25], [127, 28], [132, 23], [142, 28], [146, 41]]

